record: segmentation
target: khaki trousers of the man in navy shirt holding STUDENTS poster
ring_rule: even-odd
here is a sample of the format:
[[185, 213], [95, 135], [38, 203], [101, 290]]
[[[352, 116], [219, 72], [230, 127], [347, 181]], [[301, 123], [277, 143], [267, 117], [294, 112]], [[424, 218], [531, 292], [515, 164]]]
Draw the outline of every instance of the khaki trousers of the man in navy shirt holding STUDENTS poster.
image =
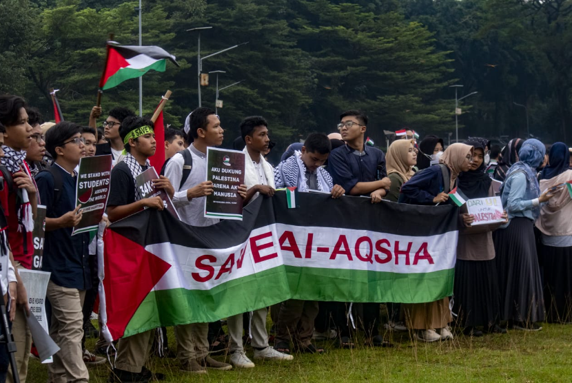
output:
[[50, 337], [60, 347], [54, 362], [48, 364], [48, 382], [89, 382], [81, 352], [85, 290], [61, 287], [50, 280], [46, 297], [52, 305]]

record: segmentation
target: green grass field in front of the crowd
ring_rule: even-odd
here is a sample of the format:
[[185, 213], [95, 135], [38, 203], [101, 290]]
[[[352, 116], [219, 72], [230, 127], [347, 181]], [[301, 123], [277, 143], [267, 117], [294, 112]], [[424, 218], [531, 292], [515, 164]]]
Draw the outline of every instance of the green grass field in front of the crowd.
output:
[[[386, 333], [391, 348], [358, 345], [336, 349], [320, 342], [325, 355], [294, 354], [292, 362], [258, 362], [254, 369], [183, 373], [174, 359], [153, 358], [149, 368], [165, 373], [165, 382], [572, 382], [572, 327], [544, 324], [538, 332], [509, 331], [500, 335], [431, 344], [409, 333]], [[94, 340], [88, 340], [88, 348]], [[170, 347], [174, 336], [170, 329]], [[252, 358], [252, 349], [247, 348]], [[216, 356], [223, 360], [224, 355]], [[90, 367], [90, 382], [106, 382], [109, 364]], [[29, 383], [45, 383], [47, 369], [30, 361]]]

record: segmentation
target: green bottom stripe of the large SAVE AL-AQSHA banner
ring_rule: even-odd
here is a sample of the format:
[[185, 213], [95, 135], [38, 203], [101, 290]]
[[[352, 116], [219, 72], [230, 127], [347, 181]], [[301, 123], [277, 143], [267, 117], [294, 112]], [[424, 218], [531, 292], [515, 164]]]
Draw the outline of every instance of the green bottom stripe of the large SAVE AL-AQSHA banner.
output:
[[[452, 295], [454, 273], [455, 269], [402, 274], [280, 266], [231, 280], [211, 290], [152, 291], [127, 324], [123, 336], [185, 322], [214, 322], [289, 298], [338, 302], [433, 302]], [[188, 313], [188, 317], [181, 318], [181, 313]]]

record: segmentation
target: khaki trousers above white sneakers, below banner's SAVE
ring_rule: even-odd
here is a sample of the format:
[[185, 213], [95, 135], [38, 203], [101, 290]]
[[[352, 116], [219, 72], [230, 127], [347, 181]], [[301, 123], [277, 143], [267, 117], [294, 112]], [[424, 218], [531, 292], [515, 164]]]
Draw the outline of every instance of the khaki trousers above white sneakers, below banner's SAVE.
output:
[[[263, 308], [252, 311], [250, 322], [250, 335], [252, 346], [255, 349], [265, 349], [268, 346], [268, 332], [266, 331], [266, 315], [268, 309]], [[243, 314], [227, 318], [228, 334], [230, 335], [229, 351], [244, 351], [243, 346]]]

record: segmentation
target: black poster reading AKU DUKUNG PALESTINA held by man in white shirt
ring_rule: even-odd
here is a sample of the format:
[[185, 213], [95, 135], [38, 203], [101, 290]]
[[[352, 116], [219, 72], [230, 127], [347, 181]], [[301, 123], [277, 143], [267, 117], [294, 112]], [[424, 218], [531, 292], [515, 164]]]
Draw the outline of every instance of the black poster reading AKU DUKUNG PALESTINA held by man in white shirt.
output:
[[238, 187], [244, 184], [245, 154], [238, 150], [207, 148], [207, 181], [213, 193], [205, 198], [205, 217], [243, 219], [243, 198]]

